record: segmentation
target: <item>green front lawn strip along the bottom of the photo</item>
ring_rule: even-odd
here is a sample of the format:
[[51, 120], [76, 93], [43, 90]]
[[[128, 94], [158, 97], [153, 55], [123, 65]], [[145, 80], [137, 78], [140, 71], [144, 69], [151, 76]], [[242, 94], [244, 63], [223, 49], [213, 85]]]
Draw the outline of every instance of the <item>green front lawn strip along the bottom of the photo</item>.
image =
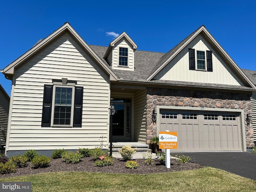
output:
[[210, 167], [145, 175], [50, 172], [0, 181], [32, 182], [33, 192], [256, 191], [256, 181]]

